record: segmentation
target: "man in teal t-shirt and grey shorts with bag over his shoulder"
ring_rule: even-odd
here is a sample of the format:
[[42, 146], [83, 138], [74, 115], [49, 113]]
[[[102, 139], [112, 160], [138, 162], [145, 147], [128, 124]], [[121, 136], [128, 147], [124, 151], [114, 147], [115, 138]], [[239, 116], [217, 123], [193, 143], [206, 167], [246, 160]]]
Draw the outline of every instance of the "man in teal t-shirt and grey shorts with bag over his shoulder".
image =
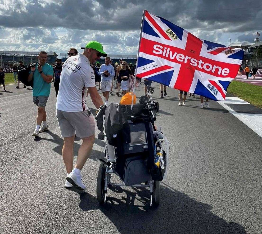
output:
[[[39, 63], [35, 67], [31, 67], [31, 72], [28, 76], [28, 81], [34, 77], [33, 87], [33, 102], [37, 105], [37, 124], [32, 136], [38, 137], [39, 132], [48, 129], [46, 124], [46, 102], [50, 94], [51, 80], [53, 79], [53, 67], [46, 63], [47, 53], [45, 51], [39, 52]], [[41, 122], [43, 126], [40, 128]]]

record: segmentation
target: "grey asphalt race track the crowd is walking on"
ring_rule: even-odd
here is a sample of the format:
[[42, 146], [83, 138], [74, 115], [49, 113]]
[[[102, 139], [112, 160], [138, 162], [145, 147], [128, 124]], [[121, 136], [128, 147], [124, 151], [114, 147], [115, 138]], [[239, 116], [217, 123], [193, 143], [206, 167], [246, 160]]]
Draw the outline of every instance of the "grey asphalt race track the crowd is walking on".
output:
[[[98, 204], [104, 143], [97, 138], [82, 170], [86, 192], [65, 190], [53, 84], [49, 130], [36, 139], [32, 91], [1, 88], [0, 232], [262, 233], [262, 138], [214, 101], [200, 109], [196, 95], [179, 107], [177, 90], [168, 88], [168, 96], [160, 98], [159, 85], [153, 87], [160, 105], [156, 124], [175, 146], [157, 209], [149, 206], [149, 191], [137, 188], [112, 188], [107, 204]], [[140, 85], [136, 94], [143, 92]], [[119, 101], [115, 92], [110, 95], [109, 102]], [[90, 97], [87, 104], [94, 113]], [[75, 155], [80, 144], [75, 142]]]

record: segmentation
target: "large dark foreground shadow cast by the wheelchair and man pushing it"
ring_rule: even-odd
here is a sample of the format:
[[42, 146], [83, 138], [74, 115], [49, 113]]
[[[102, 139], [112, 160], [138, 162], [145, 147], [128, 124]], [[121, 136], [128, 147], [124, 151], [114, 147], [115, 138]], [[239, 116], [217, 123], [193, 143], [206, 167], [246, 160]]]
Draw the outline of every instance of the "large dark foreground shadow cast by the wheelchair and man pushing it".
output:
[[[240, 224], [226, 222], [213, 214], [211, 205], [198, 202], [165, 183], [161, 183], [158, 208], [150, 208], [146, 188], [129, 191], [116, 187], [112, 190], [108, 191], [107, 204], [103, 206], [91, 194], [75, 192], [80, 195], [82, 210], [100, 209], [120, 233], [246, 233]], [[122, 199], [110, 197], [114, 192], [123, 193]], [[135, 204], [136, 201], [140, 204]]]

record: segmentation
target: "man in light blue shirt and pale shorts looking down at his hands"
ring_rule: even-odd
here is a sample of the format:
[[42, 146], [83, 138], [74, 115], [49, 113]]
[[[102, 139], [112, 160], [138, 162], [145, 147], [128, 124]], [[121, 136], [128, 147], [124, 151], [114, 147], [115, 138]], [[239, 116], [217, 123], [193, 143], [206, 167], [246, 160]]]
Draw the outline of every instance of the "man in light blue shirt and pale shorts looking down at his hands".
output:
[[114, 79], [114, 67], [110, 64], [110, 57], [106, 57], [105, 63], [100, 66], [98, 74], [101, 76], [101, 90], [107, 105], [112, 80]]

